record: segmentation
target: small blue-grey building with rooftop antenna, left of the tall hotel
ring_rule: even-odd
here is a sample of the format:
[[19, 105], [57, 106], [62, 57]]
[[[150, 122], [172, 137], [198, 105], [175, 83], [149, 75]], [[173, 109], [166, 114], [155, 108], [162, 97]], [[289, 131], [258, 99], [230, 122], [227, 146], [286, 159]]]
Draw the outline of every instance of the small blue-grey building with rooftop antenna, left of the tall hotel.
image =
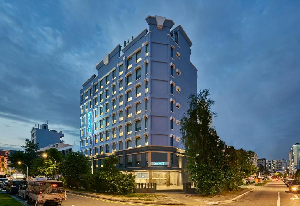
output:
[[56, 130], [49, 130], [49, 125], [42, 124], [40, 128], [32, 127], [31, 130], [31, 141], [33, 143], [38, 143], [39, 149], [46, 147], [55, 143], [63, 143], [61, 140], [64, 137], [62, 132], [57, 132]]

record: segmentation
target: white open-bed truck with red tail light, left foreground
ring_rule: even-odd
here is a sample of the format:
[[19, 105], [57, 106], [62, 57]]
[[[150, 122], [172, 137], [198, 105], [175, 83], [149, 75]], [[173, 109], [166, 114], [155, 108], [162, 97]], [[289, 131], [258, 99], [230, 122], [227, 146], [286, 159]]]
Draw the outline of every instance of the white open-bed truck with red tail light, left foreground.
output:
[[64, 183], [56, 180], [28, 181], [25, 189], [27, 203], [35, 206], [61, 205], [67, 199]]

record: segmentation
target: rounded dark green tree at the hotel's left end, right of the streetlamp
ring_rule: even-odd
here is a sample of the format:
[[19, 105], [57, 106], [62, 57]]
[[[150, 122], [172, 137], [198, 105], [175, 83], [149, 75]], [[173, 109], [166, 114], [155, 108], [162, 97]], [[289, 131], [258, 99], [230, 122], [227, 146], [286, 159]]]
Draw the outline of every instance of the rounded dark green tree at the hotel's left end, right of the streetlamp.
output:
[[58, 164], [58, 171], [68, 187], [78, 188], [91, 169], [89, 161], [79, 152], [69, 152]]

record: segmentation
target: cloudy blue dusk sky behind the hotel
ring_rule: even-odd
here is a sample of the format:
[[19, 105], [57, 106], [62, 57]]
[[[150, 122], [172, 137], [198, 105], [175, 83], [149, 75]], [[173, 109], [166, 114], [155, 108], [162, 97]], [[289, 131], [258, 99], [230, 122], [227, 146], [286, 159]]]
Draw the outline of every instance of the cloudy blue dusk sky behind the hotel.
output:
[[79, 144], [79, 90], [117, 44], [173, 19], [193, 42], [198, 90], [227, 144], [267, 159], [300, 142], [300, 1], [0, 0], [0, 148], [49, 119]]

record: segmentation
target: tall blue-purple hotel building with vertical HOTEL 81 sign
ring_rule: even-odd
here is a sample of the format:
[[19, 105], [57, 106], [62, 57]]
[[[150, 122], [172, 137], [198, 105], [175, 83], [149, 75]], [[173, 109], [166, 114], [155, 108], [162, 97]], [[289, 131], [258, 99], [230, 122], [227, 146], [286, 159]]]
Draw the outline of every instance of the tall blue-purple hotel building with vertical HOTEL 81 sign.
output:
[[[197, 93], [192, 42], [181, 27], [148, 16], [145, 28], [123, 49], [117, 45], [95, 66], [80, 90], [81, 152], [91, 171], [114, 154], [117, 167], [136, 182], [187, 181], [180, 119]], [[121, 55], [122, 51], [122, 55]]]

